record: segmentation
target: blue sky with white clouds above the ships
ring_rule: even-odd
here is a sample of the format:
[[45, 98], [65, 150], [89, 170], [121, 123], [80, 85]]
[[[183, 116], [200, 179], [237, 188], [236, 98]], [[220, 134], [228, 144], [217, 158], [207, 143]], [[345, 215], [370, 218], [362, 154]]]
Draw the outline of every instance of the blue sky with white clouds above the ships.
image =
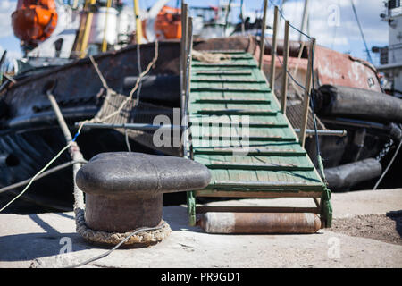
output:
[[[317, 40], [318, 45], [327, 46], [341, 53], [349, 53], [359, 58], [367, 59], [364, 42], [361, 38], [356, 18], [353, 14], [351, 1], [356, 5], [357, 15], [363, 28], [367, 46], [388, 45], [388, 24], [381, 21], [380, 13], [384, 13], [382, 0], [310, 0], [309, 4], [309, 35]], [[132, 6], [132, 0], [123, 0]], [[223, 2], [221, 0], [221, 2]], [[244, 0], [245, 9], [254, 13], [261, 10], [263, 0]], [[282, 4], [282, 0], [270, 0], [273, 4]], [[155, 0], [139, 0], [141, 9], [146, 9], [155, 3]], [[175, 6], [177, 0], [168, 4]], [[188, 0], [188, 5], [208, 6], [217, 5], [219, 0]], [[240, 0], [232, 3], [240, 4]], [[17, 0], [0, 0], [0, 53], [7, 50], [9, 59], [21, 57], [20, 41], [13, 36], [11, 14], [15, 10]], [[288, 0], [283, 4], [283, 14], [295, 27], [299, 28], [304, 0]], [[273, 5], [269, 4], [268, 24], [272, 25]], [[236, 9], [236, 8], [235, 8]], [[238, 10], [239, 11], [239, 10]], [[234, 11], [236, 13], [236, 11]], [[236, 19], [235, 15], [233, 20]], [[281, 22], [281, 27], [283, 22]], [[280, 30], [280, 35], [282, 35]], [[281, 36], [280, 36], [281, 37]], [[290, 34], [291, 39], [298, 39], [297, 32]], [[378, 63], [372, 54], [374, 64]]]

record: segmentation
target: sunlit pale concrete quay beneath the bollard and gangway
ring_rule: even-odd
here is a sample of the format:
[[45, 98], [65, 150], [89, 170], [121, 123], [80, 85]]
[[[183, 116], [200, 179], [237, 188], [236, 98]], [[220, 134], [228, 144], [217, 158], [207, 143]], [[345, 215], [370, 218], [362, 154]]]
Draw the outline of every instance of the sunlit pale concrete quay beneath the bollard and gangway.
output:
[[[278, 198], [210, 205], [314, 206], [309, 203]], [[188, 227], [186, 206], [165, 206], [163, 219], [172, 228], [166, 240], [117, 249], [84, 267], [402, 267], [402, 189], [333, 193], [331, 203], [333, 227], [309, 235], [207, 234]], [[0, 225], [2, 268], [65, 267], [109, 249], [83, 240], [72, 213], [0, 214]]]

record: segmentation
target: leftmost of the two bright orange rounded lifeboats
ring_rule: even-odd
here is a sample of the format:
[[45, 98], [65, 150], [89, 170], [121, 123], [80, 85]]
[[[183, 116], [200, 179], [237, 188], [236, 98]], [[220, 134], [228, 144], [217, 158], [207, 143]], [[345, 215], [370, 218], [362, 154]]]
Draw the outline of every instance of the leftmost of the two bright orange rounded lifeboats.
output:
[[57, 25], [54, 0], [18, 0], [12, 14], [13, 32], [23, 46], [35, 47], [49, 38]]

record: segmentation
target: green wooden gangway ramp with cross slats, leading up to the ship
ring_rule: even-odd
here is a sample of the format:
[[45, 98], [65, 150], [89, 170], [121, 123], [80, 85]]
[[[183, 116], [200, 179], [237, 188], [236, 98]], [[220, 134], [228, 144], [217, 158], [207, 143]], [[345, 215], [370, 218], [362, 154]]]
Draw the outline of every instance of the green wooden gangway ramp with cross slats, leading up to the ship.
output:
[[[188, 192], [189, 223], [197, 213], [307, 212], [331, 227], [331, 192], [281, 113], [263, 71], [252, 55], [223, 53], [219, 63], [192, 61], [188, 93], [190, 156], [212, 179]], [[196, 206], [198, 197], [314, 198], [314, 207]]]

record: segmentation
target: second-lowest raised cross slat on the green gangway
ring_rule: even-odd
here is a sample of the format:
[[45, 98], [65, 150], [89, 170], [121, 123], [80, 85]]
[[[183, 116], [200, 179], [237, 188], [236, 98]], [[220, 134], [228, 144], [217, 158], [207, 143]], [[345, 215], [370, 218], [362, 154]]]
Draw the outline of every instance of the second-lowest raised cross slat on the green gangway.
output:
[[305, 150], [274, 149], [264, 147], [195, 147], [195, 155], [236, 155], [236, 153], [247, 156], [306, 156]]

